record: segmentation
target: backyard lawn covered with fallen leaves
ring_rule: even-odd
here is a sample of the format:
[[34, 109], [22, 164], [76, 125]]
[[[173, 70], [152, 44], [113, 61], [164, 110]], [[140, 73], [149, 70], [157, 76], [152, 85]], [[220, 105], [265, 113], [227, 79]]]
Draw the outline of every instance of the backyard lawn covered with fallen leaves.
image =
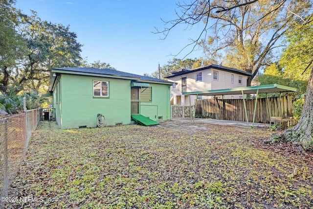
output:
[[5, 207], [313, 208], [312, 154], [264, 144], [266, 130], [169, 123], [60, 130], [41, 122], [9, 193], [19, 201]]

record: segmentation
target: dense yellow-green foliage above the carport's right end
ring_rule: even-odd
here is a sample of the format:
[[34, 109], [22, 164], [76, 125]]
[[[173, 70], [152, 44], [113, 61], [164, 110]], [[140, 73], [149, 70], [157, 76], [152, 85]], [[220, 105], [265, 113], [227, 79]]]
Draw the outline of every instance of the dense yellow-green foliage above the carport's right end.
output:
[[296, 98], [306, 92], [310, 70], [304, 71], [312, 59], [313, 54], [313, 22], [296, 25], [285, 37], [287, 47], [275, 64], [266, 67], [264, 74], [257, 80], [262, 84], [281, 84], [298, 90]]

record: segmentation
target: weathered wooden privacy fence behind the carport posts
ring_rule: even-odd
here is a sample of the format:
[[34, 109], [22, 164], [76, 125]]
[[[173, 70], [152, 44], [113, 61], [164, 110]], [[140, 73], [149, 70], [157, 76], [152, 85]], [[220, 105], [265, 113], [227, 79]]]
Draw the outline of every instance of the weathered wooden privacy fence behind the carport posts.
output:
[[[245, 99], [245, 102], [248, 121], [252, 122], [255, 99]], [[292, 116], [292, 97], [258, 98], [255, 122], [269, 123], [270, 116]], [[197, 99], [195, 117], [246, 121], [244, 100]]]

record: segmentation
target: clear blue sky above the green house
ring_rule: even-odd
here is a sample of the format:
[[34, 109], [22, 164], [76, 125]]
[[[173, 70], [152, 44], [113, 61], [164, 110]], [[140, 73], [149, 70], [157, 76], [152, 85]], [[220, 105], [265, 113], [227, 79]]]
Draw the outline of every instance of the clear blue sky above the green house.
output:
[[[152, 73], [163, 66], [195, 38], [200, 26], [192, 30], [175, 28], [165, 40], [155, 26], [176, 19], [177, 0], [16, 0], [23, 13], [37, 12], [42, 20], [69, 25], [78, 36], [82, 57], [110, 63], [117, 70], [135, 74]], [[176, 58], [182, 59], [188, 48]], [[202, 49], [186, 58], [203, 57]]]

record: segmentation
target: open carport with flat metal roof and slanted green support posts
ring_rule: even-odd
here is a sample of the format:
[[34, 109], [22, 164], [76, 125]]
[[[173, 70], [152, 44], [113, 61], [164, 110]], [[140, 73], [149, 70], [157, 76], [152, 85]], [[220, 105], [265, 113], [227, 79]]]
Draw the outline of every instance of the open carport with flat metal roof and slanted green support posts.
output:
[[[247, 124], [249, 123], [249, 121], [248, 121], [248, 116], [247, 116], [246, 101], [245, 101], [244, 95], [245, 94], [256, 94], [256, 100], [255, 100], [255, 104], [254, 104], [254, 113], [253, 113], [253, 119], [252, 119], [252, 126], [253, 126], [254, 121], [255, 121], [255, 113], [256, 113], [256, 107], [257, 107], [257, 101], [258, 101], [257, 98], [258, 98], [259, 93], [266, 93], [268, 110], [269, 110], [270, 108], [269, 108], [269, 102], [268, 102], [268, 93], [280, 93], [280, 97], [281, 97], [281, 93], [296, 92], [296, 91], [297, 91], [297, 89], [292, 88], [292, 87], [283, 86], [283, 85], [279, 85], [279, 84], [270, 84], [270, 85], [239, 87], [239, 88], [232, 88], [232, 89], [218, 89], [218, 90], [209, 90], [209, 91], [200, 91], [200, 92], [184, 92], [182, 94], [184, 94], [184, 95], [197, 95], [197, 96], [198, 95], [203, 95], [203, 96], [222, 95], [222, 100], [224, 99], [224, 95], [242, 94]], [[190, 99], [190, 97], [189, 97], [189, 99]], [[196, 100], [196, 102], [197, 102], [197, 100]], [[279, 99], [279, 103], [280, 103], [280, 99]], [[197, 105], [197, 103], [196, 103], [196, 105]], [[271, 116], [270, 111], [269, 111], [269, 116]]]

